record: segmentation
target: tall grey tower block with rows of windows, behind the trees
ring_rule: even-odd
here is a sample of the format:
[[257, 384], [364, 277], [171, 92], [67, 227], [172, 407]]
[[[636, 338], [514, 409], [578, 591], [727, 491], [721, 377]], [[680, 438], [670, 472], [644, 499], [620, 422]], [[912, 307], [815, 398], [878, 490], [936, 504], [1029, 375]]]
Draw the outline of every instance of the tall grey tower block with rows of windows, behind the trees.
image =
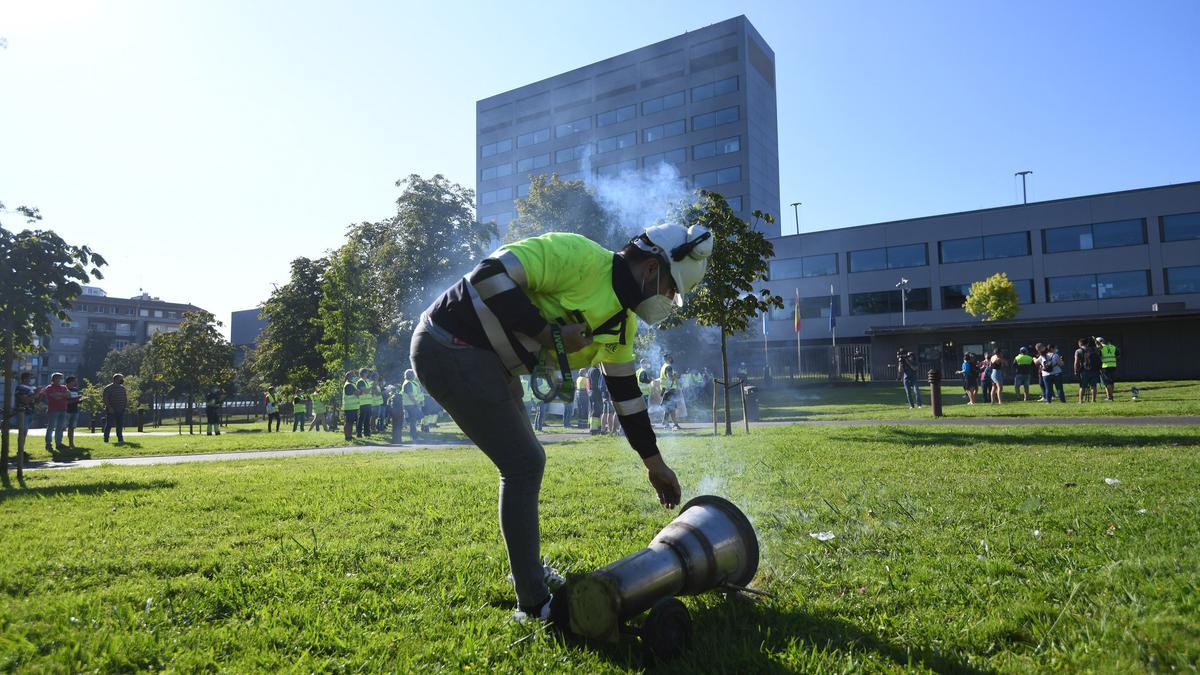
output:
[[775, 55], [744, 16], [484, 98], [475, 126], [479, 217], [502, 232], [530, 175], [661, 163], [743, 217], [780, 216]]

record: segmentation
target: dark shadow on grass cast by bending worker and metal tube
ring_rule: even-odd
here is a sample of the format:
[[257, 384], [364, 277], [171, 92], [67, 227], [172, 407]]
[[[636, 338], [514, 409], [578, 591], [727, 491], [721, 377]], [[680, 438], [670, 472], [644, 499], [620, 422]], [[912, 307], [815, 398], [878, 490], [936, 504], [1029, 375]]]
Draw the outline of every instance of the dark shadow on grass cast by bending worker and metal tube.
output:
[[[932, 646], [907, 647], [889, 643], [872, 631], [844, 619], [786, 611], [769, 603], [728, 602], [694, 609], [692, 646], [679, 659], [654, 663], [632, 637], [616, 644], [568, 639], [626, 669], [654, 668], [656, 673], [794, 673], [812, 670], [850, 655], [875, 655], [883, 667], [918, 667], [934, 673], [984, 674], [994, 670], [971, 665]], [[821, 653], [832, 652], [832, 653]], [[859, 663], [858, 668], [864, 664]]]

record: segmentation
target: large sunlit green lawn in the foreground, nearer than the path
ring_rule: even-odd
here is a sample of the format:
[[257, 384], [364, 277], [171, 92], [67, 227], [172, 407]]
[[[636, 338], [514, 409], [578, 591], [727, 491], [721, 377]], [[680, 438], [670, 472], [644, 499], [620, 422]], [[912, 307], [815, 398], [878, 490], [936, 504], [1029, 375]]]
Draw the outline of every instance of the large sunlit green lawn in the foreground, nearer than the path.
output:
[[[774, 595], [688, 598], [697, 640], [665, 671], [1200, 661], [1196, 428], [792, 426], [665, 444], [685, 496], [751, 516], [754, 585]], [[672, 518], [623, 441], [547, 454], [542, 551], [570, 573]], [[0, 670], [642, 669], [631, 643], [509, 621], [496, 482], [472, 448], [31, 473], [0, 498]]]

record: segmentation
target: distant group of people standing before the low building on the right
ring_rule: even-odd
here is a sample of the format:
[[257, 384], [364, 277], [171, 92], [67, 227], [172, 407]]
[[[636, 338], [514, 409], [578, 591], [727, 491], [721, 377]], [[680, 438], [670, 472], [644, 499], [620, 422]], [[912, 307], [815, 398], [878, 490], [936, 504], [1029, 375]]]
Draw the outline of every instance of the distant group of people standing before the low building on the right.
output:
[[[1068, 363], [1055, 344], [1038, 342], [1025, 346], [1009, 358], [1003, 350], [985, 351], [982, 354], [966, 352], [962, 365], [955, 372], [962, 378], [962, 393], [967, 405], [1004, 402], [1004, 384], [1012, 382], [1022, 401], [1030, 400], [1030, 387], [1037, 382], [1042, 396], [1033, 399], [1039, 402], [1067, 402], [1063, 380], [1073, 372], [1079, 380], [1078, 401], [1080, 404], [1099, 400], [1099, 389], [1104, 389], [1104, 399], [1111, 401], [1116, 386], [1117, 362], [1121, 350], [1104, 338], [1080, 338], [1074, 358]], [[896, 353], [898, 370], [904, 384], [908, 407], [920, 407], [920, 389], [917, 386], [917, 362], [912, 352], [904, 347]], [[1069, 369], [1069, 370], [1068, 370]], [[1009, 377], [1009, 375], [1012, 375]]]

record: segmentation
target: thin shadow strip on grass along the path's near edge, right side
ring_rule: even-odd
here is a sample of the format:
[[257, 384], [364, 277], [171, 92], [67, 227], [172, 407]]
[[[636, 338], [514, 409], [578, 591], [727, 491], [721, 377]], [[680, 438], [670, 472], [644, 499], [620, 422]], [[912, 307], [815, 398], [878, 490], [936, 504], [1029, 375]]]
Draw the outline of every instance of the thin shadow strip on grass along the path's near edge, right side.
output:
[[[1046, 422], [1052, 425], [1052, 420]], [[1112, 435], [1104, 431], [1084, 431], [1086, 426], [1072, 426], [1069, 434], [1058, 434], [1038, 429], [1006, 430], [1001, 434], [983, 432], [980, 429], [942, 426], [937, 430], [922, 426], [889, 426], [886, 430], [865, 432], [857, 430], [839, 430], [827, 435], [829, 440], [862, 442], [895, 442], [898, 446], [934, 446], [952, 448], [971, 448], [980, 443], [1019, 446], [1024, 448], [1066, 448], [1094, 446], [1106, 448], [1129, 448], [1146, 446], [1200, 447], [1200, 434], [1122, 434]]]

